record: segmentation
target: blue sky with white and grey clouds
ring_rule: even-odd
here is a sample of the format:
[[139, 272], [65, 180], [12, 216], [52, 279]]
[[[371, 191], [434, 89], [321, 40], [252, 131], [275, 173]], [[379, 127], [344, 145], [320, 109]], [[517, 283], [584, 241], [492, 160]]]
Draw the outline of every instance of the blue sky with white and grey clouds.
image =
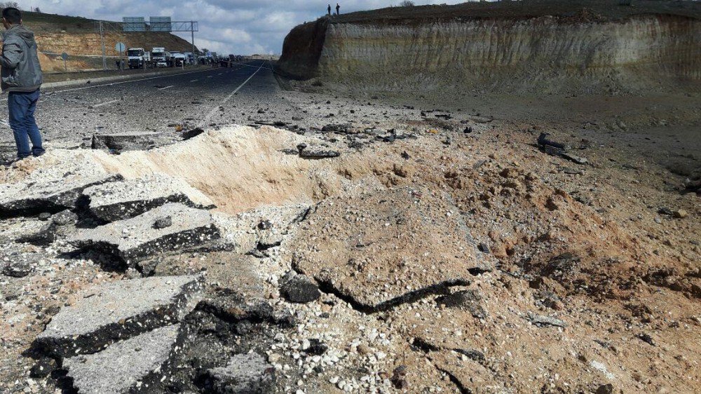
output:
[[[337, 1], [337, 0], [336, 0]], [[341, 13], [397, 5], [401, 0], [339, 1]], [[465, 0], [463, 0], [465, 1]], [[414, 0], [423, 4], [463, 1]], [[20, 8], [43, 13], [121, 21], [124, 16], [170, 16], [196, 20], [195, 45], [217, 53], [279, 54], [292, 27], [326, 13], [329, 0], [19, 0]], [[336, 4], [331, 5], [335, 7]], [[190, 41], [190, 33], [178, 34]]]

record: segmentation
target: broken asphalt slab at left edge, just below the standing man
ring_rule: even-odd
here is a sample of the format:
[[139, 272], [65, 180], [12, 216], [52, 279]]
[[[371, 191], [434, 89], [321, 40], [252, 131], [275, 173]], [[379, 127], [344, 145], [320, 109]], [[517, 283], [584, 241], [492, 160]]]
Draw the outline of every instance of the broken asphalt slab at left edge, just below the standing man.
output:
[[76, 208], [84, 189], [123, 179], [121, 175], [67, 175], [0, 186], [0, 217], [27, 216]]

